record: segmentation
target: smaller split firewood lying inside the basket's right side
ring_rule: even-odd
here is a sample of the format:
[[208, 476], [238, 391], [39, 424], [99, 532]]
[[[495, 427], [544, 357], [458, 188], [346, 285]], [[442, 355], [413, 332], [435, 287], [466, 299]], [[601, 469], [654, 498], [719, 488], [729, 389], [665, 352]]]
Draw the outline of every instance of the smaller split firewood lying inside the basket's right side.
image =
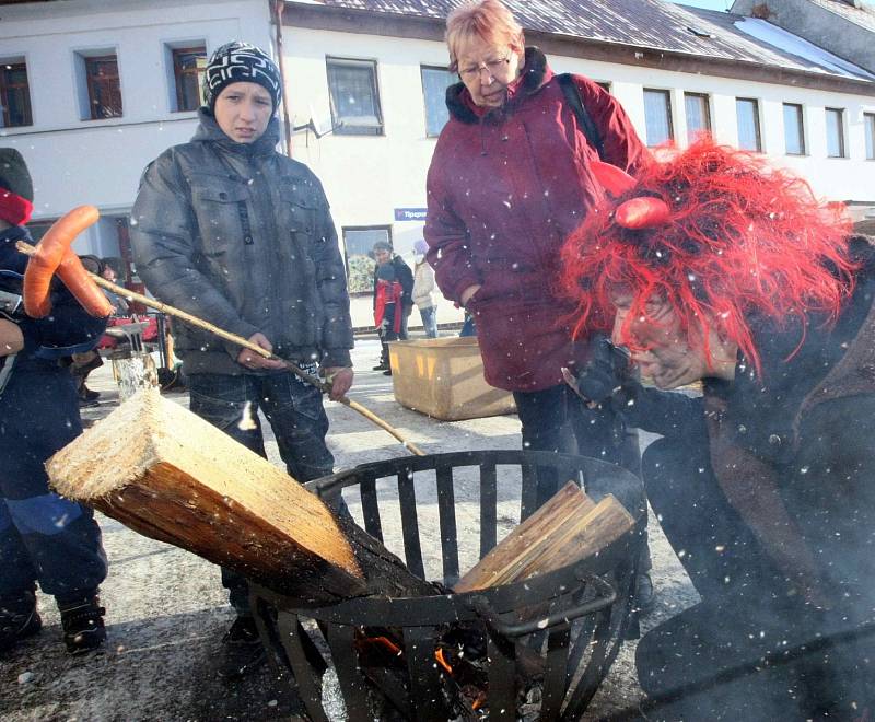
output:
[[585, 559], [627, 534], [634, 519], [611, 494], [598, 504], [569, 481], [455, 585], [456, 592], [518, 582]]

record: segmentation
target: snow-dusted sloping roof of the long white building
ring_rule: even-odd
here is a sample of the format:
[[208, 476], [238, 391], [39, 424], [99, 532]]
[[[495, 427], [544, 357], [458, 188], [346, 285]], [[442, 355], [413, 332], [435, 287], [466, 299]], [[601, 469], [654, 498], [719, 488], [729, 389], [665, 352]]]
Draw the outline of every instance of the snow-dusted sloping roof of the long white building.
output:
[[[835, 0], [817, 1], [839, 4]], [[864, 69], [791, 33], [761, 20], [728, 12], [700, 10], [662, 0], [505, 0], [505, 3], [527, 32], [875, 81], [875, 75]], [[295, 4], [443, 22], [459, 0], [287, 2], [287, 5]]]

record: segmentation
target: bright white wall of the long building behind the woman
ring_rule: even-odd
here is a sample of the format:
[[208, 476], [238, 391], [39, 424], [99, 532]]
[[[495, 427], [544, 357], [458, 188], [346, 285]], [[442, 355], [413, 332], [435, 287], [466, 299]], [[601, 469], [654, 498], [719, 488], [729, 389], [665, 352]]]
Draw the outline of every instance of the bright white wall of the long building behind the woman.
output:
[[[317, 139], [311, 132], [301, 132], [293, 139], [292, 153], [323, 179], [339, 231], [342, 226], [390, 225], [396, 251], [409, 258], [423, 223], [395, 221], [394, 209], [425, 206], [425, 174], [436, 139], [425, 135], [420, 66], [446, 66], [443, 43], [285, 26], [283, 47], [287, 97], [295, 125], [305, 125], [311, 118], [317, 125], [329, 125], [326, 55], [376, 60], [385, 135], [328, 135]], [[728, 144], [738, 142], [736, 96], [757, 98], [763, 151], [774, 162], [808, 178], [815, 193], [828, 199], [872, 200], [875, 195], [875, 161], [865, 160], [863, 137], [863, 113], [875, 112], [875, 98], [709, 75], [642, 71], [571, 57], [549, 60], [557, 72], [578, 72], [610, 82], [611, 92], [642, 138], [646, 137], [644, 88], [669, 91], [675, 138], [680, 144], [686, 144], [687, 136], [685, 92], [709, 95], [714, 136]], [[804, 108], [804, 156], [785, 154], [783, 103]], [[850, 158], [827, 158], [825, 107], [845, 109]], [[444, 319], [458, 315], [450, 304], [439, 313]]]

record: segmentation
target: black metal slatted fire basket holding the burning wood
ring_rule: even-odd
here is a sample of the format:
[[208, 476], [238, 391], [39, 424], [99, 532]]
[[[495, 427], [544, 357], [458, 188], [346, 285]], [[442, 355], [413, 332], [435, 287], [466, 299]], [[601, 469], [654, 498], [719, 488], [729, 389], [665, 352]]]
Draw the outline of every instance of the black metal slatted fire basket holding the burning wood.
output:
[[[612, 493], [635, 517], [635, 528], [594, 558], [524, 582], [475, 592], [352, 598], [313, 608], [253, 586], [261, 640], [271, 652], [271, 661], [294, 674], [314, 722], [328, 721], [322, 675], [330, 665], [337, 673], [350, 722], [374, 720], [375, 704], [383, 710], [377, 712], [381, 720], [535, 719], [530, 711], [523, 711], [533, 707], [533, 686], [527, 684], [533, 657], [538, 669], [535, 686], [539, 695], [534, 700], [537, 707], [539, 697], [537, 719], [581, 719], [614, 662], [632, 617], [635, 560], [645, 524], [639, 479], [620, 467], [581, 456], [478, 451], [364, 464], [308, 486], [324, 498], [348, 488], [350, 500], [358, 489], [364, 528], [381, 542], [384, 516], [394, 523], [399, 514], [404, 548], [393, 551], [420, 577], [427, 578], [423, 558], [429, 552], [438, 556], [440, 536], [441, 581], [448, 589], [459, 578], [460, 558], [466, 564], [476, 562], [495, 546], [500, 523], [511, 521], [503, 519], [509, 502], [525, 519], [534, 511], [535, 479], [540, 475], [542, 484], [544, 475], [553, 474], [560, 486], [575, 480], [594, 501]], [[474, 490], [479, 490], [479, 509], [476, 505], [474, 513], [479, 515], [479, 533], [463, 527], [459, 534], [459, 521], [477, 526], [476, 519], [459, 520], [456, 501]], [[518, 496], [509, 498], [513, 493]], [[431, 536], [423, 528], [429, 513], [436, 515], [438, 523]], [[424, 547], [425, 555], [423, 538], [433, 538], [433, 544]], [[451, 707], [447, 700], [458, 701], [457, 695], [447, 694], [454, 684], [452, 674], [435, 662], [434, 655], [447, 629], [466, 625], [481, 628], [486, 642], [481, 664], [488, 684], [480, 711]], [[369, 667], [362, 659], [357, 640], [366, 636], [369, 628], [392, 629], [402, 640], [392, 674]]]

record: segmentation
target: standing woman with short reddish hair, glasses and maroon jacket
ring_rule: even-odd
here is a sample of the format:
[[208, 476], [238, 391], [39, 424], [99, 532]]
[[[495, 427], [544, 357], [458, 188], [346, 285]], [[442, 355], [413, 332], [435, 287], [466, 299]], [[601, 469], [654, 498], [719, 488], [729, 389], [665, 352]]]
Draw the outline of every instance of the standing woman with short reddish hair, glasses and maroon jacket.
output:
[[[558, 293], [565, 236], [602, 195], [591, 162], [634, 173], [649, 156], [614, 96], [568, 77], [595, 132], [569, 102], [562, 78], [499, 0], [475, 0], [446, 21], [450, 120], [428, 174], [428, 260], [438, 287], [472, 315], [486, 381], [513, 393], [523, 447], [579, 453], [639, 473], [638, 439], [608, 407], [590, 408], [562, 368], [584, 362], [590, 335], [572, 339], [573, 306]], [[559, 489], [539, 470], [536, 505]], [[643, 545], [638, 605], [653, 589]]]

